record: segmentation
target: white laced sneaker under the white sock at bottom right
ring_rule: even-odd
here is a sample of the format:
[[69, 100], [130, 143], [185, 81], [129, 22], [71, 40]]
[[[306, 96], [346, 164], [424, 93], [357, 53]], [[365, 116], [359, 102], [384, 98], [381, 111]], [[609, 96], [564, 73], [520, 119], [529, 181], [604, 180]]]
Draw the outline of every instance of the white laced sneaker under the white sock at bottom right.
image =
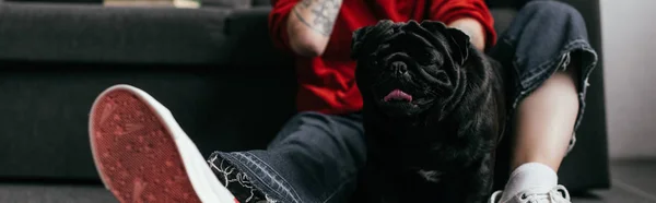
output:
[[552, 189], [528, 189], [517, 193], [505, 202], [499, 202], [503, 191], [496, 191], [490, 196], [489, 203], [571, 203], [570, 193], [563, 186]]

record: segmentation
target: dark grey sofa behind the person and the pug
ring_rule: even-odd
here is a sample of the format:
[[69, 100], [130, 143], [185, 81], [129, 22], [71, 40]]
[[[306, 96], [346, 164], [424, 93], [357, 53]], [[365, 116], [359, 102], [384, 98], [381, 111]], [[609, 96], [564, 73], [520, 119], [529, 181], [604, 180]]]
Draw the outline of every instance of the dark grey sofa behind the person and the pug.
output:
[[[601, 53], [599, 2], [566, 2]], [[499, 31], [522, 3], [489, 2]], [[204, 155], [263, 148], [294, 114], [296, 85], [290, 56], [268, 37], [269, 11], [262, 0], [241, 9], [0, 2], [0, 180], [99, 183], [87, 116], [95, 96], [118, 83], [167, 106]], [[570, 190], [609, 187], [601, 73], [599, 63], [577, 146], [560, 171]]]

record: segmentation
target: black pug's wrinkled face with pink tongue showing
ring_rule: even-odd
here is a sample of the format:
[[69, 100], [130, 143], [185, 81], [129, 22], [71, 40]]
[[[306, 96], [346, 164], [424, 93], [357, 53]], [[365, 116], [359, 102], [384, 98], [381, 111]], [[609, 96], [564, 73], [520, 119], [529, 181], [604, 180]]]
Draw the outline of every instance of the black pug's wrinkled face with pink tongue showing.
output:
[[355, 31], [351, 53], [365, 105], [391, 117], [443, 109], [459, 86], [469, 46], [465, 33], [433, 21], [385, 20]]

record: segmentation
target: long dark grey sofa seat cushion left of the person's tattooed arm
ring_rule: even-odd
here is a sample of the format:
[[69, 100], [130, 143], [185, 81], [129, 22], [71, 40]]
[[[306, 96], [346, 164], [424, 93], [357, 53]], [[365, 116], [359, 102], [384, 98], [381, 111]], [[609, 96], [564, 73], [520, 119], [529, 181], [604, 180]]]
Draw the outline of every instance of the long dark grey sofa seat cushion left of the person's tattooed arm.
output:
[[229, 9], [0, 3], [0, 60], [225, 63]]

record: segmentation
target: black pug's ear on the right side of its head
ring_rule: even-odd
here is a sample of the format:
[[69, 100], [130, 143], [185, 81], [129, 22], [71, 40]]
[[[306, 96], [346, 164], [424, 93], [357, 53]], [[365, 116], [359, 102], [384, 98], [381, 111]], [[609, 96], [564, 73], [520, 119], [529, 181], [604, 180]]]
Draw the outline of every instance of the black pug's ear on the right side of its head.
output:
[[444, 23], [438, 21], [423, 21], [421, 26], [433, 34], [443, 35], [452, 49], [452, 59], [460, 64], [465, 63], [469, 57], [469, 35], [460, 29], [447, 27]]

